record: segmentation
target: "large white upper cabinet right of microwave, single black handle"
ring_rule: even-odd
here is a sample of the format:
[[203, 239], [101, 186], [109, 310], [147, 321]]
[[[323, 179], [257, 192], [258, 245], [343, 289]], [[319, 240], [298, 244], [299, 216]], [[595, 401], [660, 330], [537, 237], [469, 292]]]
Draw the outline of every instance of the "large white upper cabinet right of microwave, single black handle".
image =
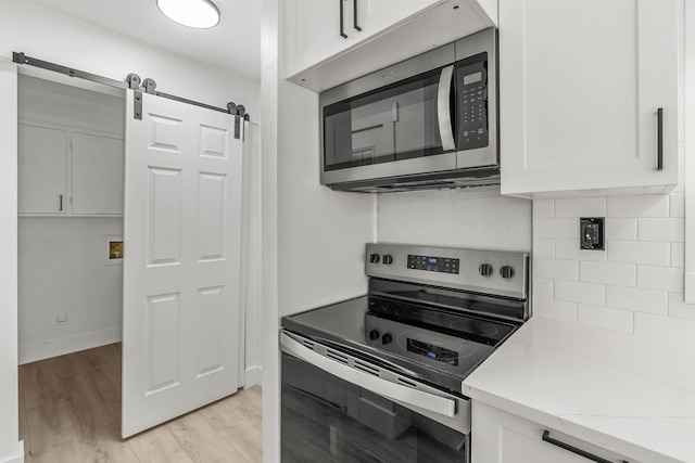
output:
[[675, 1], [498, 7], [502, 193], [668, 192], [678, 182]]

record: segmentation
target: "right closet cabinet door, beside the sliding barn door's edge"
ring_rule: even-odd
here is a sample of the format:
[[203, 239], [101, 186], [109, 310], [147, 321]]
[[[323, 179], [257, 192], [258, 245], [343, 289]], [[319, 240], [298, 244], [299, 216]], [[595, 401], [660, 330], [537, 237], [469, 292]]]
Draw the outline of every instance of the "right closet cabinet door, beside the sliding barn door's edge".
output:
[[123, 215], [123, 140], [74, 133], [73, 214]]

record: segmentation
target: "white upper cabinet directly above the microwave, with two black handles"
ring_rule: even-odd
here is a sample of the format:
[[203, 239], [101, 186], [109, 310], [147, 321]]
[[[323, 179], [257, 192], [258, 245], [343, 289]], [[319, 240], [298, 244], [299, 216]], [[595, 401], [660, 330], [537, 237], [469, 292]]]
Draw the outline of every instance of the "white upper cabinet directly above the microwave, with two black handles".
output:
[[288, 0], [285, 76], [323, 91], [496, 25], [492, 0]]

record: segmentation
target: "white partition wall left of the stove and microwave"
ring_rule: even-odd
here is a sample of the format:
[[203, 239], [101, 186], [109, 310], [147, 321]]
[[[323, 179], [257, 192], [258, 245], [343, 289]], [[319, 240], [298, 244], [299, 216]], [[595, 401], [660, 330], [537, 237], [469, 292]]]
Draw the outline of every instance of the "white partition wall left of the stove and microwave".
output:
[[318, 181], [318, 95], [285, 81], [282, 0], [263, 0], [263, 426], [266, 462], [279, 460], [282, 316], [366, 293], [372, 197]]

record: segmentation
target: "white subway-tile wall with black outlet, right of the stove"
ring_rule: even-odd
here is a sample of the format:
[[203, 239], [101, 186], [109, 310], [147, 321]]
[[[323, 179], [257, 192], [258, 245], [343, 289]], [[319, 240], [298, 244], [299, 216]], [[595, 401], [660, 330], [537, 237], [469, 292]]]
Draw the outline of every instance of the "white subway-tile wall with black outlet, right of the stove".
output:
[[[683, 297], [684, 5], [678, 4], [679, 184], [662, 196], [534, 201], [536, 316], [695, 344], [695, 305]], [[579, 217], [606, 217], [605, 252], [579, 250]]]

